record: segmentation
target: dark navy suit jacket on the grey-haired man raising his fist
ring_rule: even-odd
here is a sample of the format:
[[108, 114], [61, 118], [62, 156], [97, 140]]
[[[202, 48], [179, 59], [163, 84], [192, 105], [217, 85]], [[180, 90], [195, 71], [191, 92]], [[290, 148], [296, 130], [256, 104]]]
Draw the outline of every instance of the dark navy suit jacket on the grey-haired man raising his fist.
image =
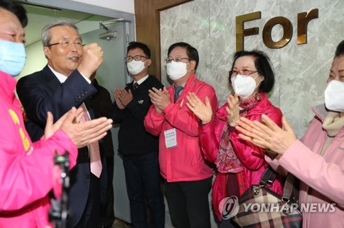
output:
[[[47, 111], [52, 112], [56, 121], [72, 106], [78, 107], [85, 102], [89, 115], [94, 119], [94, 111], [87, 98], [96, 93], [96, 89], [77, 70], [61, 83], [46, 65], [41, 71], [21, 78], [17, 83], [17, 93], [27, 115], [26, 125], [32, 141], [44, 135]], [[103, 168], [106, 169], [105, 162], [102, 163]], [[106, 181], [104, 173], [102, 172], [100, 176], [101, 182]], [[89, 152], [88, 148], [84, 147], [78, 150], [76, 166], [70, 171], [69, 208], [72, 210], [70, 227], [74, 227], [83, 214], [89, 186]], [[105, 195], [102, 194], [100, 198], [105, 199]]]

